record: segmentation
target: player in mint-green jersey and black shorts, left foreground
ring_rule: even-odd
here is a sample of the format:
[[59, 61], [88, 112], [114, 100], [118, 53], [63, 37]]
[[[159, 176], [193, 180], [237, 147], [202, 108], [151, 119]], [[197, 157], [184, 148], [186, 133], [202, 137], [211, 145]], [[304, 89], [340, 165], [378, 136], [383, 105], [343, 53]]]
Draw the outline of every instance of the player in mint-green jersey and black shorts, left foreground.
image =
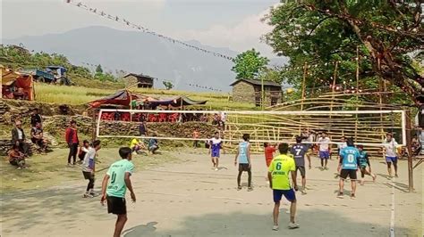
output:
[[114, 226], [114, 237], [121, 236], [123, 225], [127, 221], [127, 207], [125, 202], [127, 188], [131, 192], [132, 202], [136, 200], [130, 179], [134, 170], [134, 165], [131, 162], [131, 154], [131, 148], [120, 148], [119, 155], [122, 159], [114, 162], [103, 178], [102, 199], [100, 202], [102, 205], [105, 205], [105, 201], [107, 200], [107, 212], [118, 216]]

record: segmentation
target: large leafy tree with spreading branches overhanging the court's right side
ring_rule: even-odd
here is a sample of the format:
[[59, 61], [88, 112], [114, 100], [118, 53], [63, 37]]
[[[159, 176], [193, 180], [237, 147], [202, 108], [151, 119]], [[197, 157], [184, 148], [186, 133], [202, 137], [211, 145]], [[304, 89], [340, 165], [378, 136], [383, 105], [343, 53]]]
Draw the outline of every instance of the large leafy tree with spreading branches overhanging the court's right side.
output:
[[336, 83], [356, 86], [358, 50], [361, 86], [382, 78], [413, 97], [424, 86], [414, 66], [424, 49], [421, 11], [421, 1], [286, 1], [265, 18], [274, 28], [265, 39], [290, 58], [282, 76], [294, 86], [301, 85], [305, 63], [314, 66], [307, 66], [307, 86], [329, 86], [335, 61]]

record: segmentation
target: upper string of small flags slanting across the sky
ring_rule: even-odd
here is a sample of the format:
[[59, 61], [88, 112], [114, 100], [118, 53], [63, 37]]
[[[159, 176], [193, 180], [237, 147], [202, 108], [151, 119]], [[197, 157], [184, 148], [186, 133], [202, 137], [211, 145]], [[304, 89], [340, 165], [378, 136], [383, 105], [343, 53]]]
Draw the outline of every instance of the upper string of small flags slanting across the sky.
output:
[[122, 23], [123, 25], [125, 25], [127, 27], [131, 27], [132, 29], [140, 30], [141, 32], [149, 34], [151, 36], [160, 37], [160, 38], [165, 39], [165, 40], [167, 40], [167, 41], [169, 41], [173, 44], [182, 45], [182, 46], [197, 50], [201, 53], [208, 53], [210, 55], [220, 57], [220, 58], [223, 58], [225, 60], [233, 61], [233, 57], [231, 57], [231, 56], [225, 55], [223, 53], [216, 53], [216, 52], [210, 51], [210, 50], [205, 49], [205, 48], [201, 48], [201, 47], [196, 46], [196, 45], [190, 45], [190, 44], [187, 44], [187, 43], [185, 43], [181, 40], [175, 39], [173, 37], [166, 37], [165, 35], [159, 34], [159, 33], [155, 32], [151, 29], [148, 29], [147, 27], [141, 26], [140, 24], [135, 24], [135, 23], [130, 22], [129, 20], [125, 20], [125, 18], [123, 18], [123, 17], [109, 14], [109, 13], [101, 11], [97, 8], [89, 7], [89, 5], [87, 5], [87, 4], [83, 4], [81, 2], [76, 3], [73, 0], [66, 0], [66, 4], [71, 4], [71, 5], [77, 6], [81, 9], [83, 9], [83, 10], [89, 11], [91, 13], [95, 13], [95, 14], [97, 14], [97, 15], [99, 15], [99, 16], [107, 19], [107, 20], [114, 20], [116, 22]]

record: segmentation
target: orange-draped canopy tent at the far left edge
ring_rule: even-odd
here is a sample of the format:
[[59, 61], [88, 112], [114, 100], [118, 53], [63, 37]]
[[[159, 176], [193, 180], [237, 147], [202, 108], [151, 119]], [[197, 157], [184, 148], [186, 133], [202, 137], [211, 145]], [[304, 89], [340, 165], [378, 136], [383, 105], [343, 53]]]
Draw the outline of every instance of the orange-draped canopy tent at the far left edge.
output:
[[34, 100], [34, 80], [32, 76], [6, 69], [3, 65], [0, 65], [0, 68], [2, 78], [1, 98]]

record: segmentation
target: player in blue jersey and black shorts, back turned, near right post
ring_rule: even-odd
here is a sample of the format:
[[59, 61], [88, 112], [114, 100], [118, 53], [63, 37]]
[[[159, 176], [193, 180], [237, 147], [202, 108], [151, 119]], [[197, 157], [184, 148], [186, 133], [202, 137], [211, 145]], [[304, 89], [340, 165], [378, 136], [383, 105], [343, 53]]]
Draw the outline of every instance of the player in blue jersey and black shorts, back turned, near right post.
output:
[[352, 137], [348, 138], [346, 143], [347, 147], [343, 148], [343, 150], [340, 151], [338, 169], [341, 169], [341, 171], [339, 181], [339, 194], [337, 195], [337, 198], [343, 199], [343, 183], [347, 176], [349, 176], [352, 184], [351, 198], [355, 199], [357, 179], [356, 172], [360, 167], [360, 151], [356, 149]]

